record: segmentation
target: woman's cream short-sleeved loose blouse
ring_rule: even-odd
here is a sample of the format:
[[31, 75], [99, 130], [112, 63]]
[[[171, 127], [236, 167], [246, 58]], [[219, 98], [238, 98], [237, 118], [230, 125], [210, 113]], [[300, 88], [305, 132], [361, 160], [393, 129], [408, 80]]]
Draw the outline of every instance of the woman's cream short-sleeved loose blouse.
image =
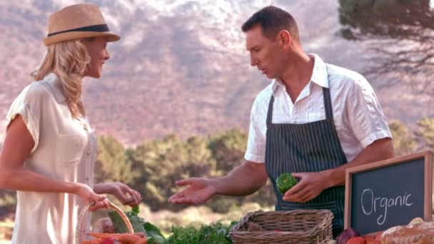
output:
[[[93, 187], [96, 138], [87, 119], [72, 118], [54, 73], [24, 88], [9, 108], [8, 125], [18, 114], [34, 138], [24, 168], [57, 181]], [[84, 207], [79, 196], [18, 191], [17, 200], [12, 243], [74, 243]]]

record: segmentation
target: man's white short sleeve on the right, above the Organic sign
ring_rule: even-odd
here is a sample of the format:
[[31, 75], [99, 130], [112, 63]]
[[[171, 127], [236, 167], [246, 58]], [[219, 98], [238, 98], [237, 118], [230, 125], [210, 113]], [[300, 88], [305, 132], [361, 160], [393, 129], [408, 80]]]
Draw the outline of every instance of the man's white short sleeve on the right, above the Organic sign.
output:
[[353, 83], [346, 107], [350, 128], [363, 148], [379, 139], [392, 138], [380, 103], [365, 78]]

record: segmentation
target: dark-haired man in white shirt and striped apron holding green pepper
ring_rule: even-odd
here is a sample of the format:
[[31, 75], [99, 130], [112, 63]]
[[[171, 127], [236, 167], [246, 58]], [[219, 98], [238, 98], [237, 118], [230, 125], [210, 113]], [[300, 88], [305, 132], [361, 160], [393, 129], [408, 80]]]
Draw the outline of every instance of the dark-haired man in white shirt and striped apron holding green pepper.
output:
[[[388, 123], [369, 83], [301, 49], [291, 14], [268, 6], [242, 26], [251, 65], [273, 82], [251, 111], [246, 162], [221, 178], [190, 178], [169, 198], [203, 203], [213, 195], [248, 195], [270, 178], [276, 210], [332, 210], [333, 235], [343, 229], [345, 170], [393, 157]], [[298, 183], [284, 195], [276, 178]]]

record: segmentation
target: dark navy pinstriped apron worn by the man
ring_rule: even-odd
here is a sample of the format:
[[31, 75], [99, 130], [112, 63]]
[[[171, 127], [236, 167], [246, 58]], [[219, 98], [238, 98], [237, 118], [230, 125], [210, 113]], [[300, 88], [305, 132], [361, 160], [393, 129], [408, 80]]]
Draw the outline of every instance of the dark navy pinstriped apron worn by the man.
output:
[[276, 188], [276, 178], [282, 173], [326, 171], [347, 163], [333, 122], [328, 88], [323, 88], [323, 96], [325, 120], [303, 124], [271, 123], [274, 103], [274, 96], [271, 96], [267, 113], [266, 171], [276, 193], [276, 210], [331, 210], [335, 237], [343, 230], [345, 186], [325, 189], [306, 203], [284, 201]]

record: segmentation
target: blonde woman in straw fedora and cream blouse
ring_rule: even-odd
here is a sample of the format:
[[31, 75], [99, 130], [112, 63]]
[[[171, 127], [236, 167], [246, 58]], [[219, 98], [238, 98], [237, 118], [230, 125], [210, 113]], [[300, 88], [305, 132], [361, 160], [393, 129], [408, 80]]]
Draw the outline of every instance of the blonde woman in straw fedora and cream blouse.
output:
[[49, 17], [46, 56], [6, 115], [0, 188], [17, 190], [12, 243], [74, 243], [78, 215], [107, 207], [105, 193], [137, 205], [122, 183], [93, 183], [96, 138], [81, 101], [82, 78], [101, 77], [108, 41], [118, 41], [98, 6], [77, 4]]

